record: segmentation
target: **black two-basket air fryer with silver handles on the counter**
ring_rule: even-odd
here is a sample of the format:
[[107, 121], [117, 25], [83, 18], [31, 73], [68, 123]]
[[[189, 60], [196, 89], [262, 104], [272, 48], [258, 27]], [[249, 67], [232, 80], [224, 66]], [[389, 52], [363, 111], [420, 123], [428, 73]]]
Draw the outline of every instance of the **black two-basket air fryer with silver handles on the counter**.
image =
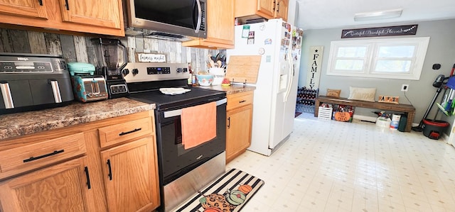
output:
[[0, 114], [66, 106], [73, 101], [61, 55], [0, 53]]

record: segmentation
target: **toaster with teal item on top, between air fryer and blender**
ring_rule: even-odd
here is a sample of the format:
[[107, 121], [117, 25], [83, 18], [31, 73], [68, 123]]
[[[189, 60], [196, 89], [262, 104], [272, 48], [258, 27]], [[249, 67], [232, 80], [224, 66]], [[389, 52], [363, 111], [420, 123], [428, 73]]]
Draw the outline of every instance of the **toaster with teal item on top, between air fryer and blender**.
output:
[[75, 99], [82, 102], [107, 99], [106, 80], [93, 75], [95, 66], [85, 62], [68, 62]]

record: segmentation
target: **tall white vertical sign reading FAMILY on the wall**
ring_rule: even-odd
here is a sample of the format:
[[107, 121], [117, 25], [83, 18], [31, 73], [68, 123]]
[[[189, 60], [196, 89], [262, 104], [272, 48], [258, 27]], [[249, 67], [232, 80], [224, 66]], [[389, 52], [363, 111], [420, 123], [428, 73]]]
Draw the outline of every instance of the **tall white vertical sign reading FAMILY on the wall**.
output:
[[321, 78], [321, 63], [323, 50], [324, 50], [323, 45], [310, 47], [309, 67], [308, 73], [306, 74], [306, 88], [309, 89], [319, 88], [319, 78]]

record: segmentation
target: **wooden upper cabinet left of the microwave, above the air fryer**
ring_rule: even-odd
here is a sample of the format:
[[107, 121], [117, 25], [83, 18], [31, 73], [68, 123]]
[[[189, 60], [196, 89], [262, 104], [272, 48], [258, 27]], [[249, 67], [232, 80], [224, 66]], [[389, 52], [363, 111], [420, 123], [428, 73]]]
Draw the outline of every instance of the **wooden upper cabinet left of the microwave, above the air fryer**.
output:
[[[122, 0], [0, 0], [0, 23], [124, 36]], [[28, 28], [27, 28], [28, 29]]]

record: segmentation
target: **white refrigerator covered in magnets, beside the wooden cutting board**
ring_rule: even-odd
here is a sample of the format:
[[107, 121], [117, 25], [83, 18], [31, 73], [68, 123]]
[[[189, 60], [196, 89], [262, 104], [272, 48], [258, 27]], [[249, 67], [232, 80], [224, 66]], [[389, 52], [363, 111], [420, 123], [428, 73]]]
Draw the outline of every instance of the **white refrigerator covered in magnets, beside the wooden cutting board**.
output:
[[272, 155], [294, 127], [303, 31], [282, 19], [235, 26], [232, 55], [261, 55], [253, 101], [252, 138], [248, 150]]

